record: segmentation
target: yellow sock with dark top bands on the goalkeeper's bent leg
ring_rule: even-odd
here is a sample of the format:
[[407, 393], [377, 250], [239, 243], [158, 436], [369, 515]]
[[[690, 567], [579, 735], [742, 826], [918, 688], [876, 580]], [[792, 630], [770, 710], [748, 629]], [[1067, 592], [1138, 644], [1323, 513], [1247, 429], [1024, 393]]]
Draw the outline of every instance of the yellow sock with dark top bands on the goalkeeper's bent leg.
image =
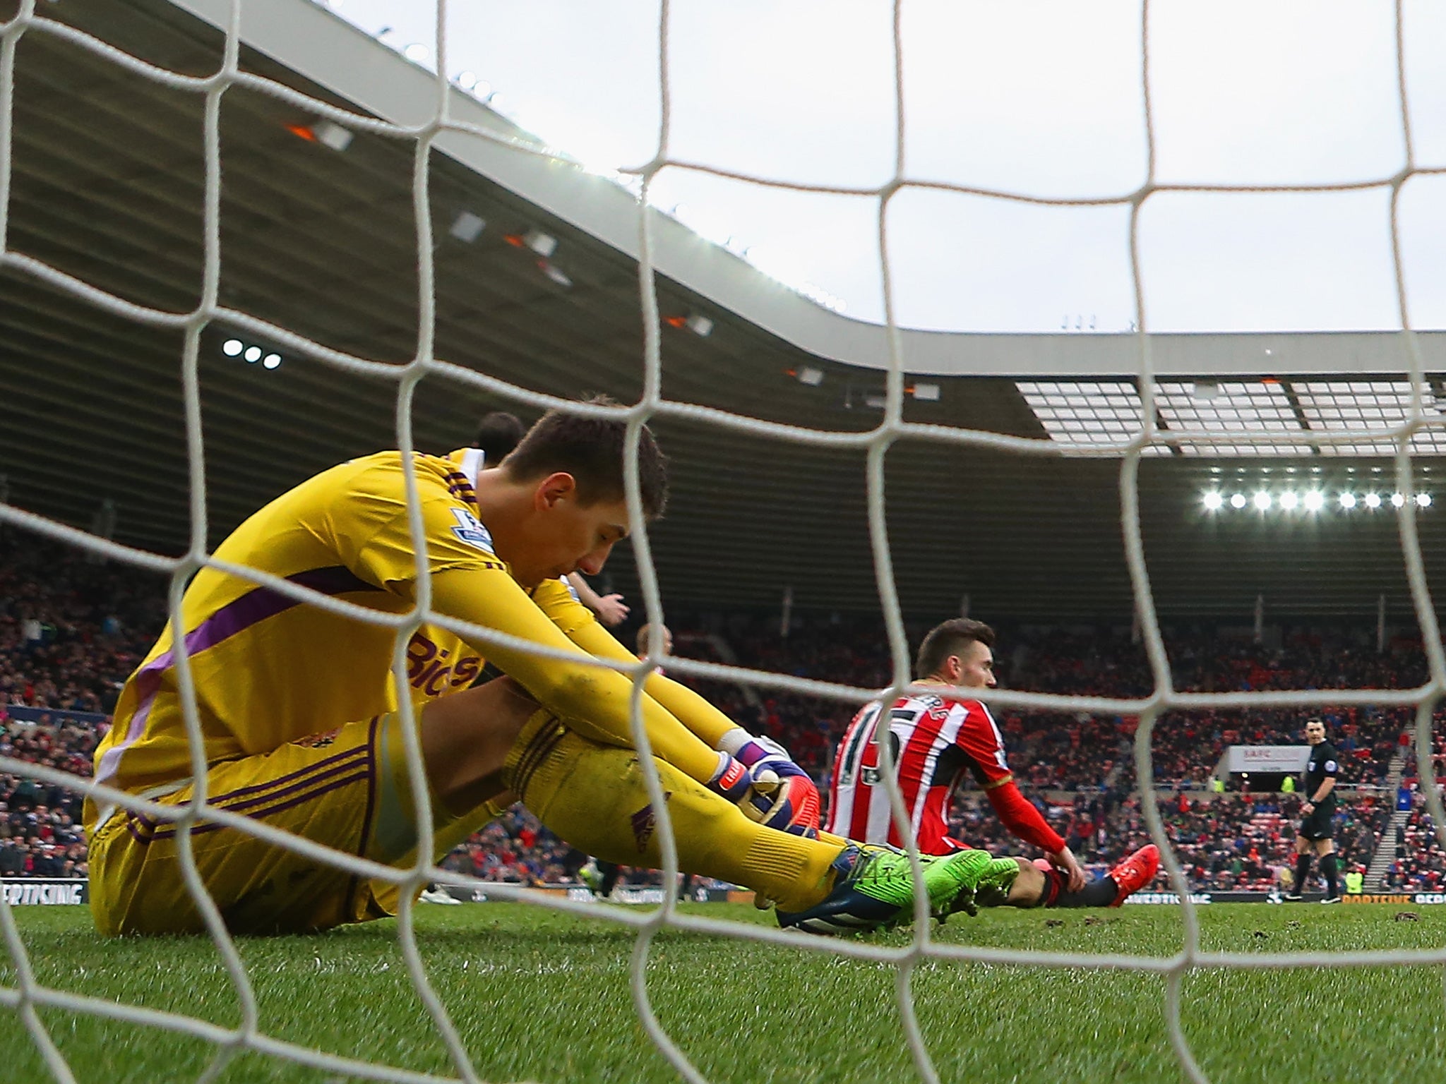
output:
[[[578, 850], [622, 866], [662, 866], [656, 817], [638, 753], [534, 717], [508, 754], [508, 788]], [[678, 869], [743, 885], [785, 911], [805, 911], [833, 887], [842, 843], [765, 828], [732, 802], [654, 759], [678, 844]]]

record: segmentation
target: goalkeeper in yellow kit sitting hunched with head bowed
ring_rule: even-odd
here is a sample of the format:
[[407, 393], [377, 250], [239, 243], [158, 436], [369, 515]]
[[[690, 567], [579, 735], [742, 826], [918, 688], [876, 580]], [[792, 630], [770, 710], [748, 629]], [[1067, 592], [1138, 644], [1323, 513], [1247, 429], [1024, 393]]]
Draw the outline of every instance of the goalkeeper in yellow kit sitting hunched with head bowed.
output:
[[[551, 412], [496, 470], [477, 449], [414, 455], [431, 607], [583, 658], [633, 662], [561, 580], [596, 574], [626, 533], [625, 425]], [[639, 484], [662, 512], [665, 464], [645, 429]], [[324, 471], [239, 526], [215, 551], [385, 614], [415, 601], [416, 554], [399, 452]], [[573, 846], [661, 864], [655, 817], [629, 731], [629, 679], [610, 669], [487, 646], [508, 676], [476, 688], [483, 645], [435, 624], [392, 676], [393, 629], [298, 603], [215, 568], [188, 585], [181, 619], [204, 740], [205, 793], [228, 809], [344, 854], [416, 859], [402, 697], [416, 708], [438, 859], [499, 804], [523, 801]], [[169, 805], [194, 796], [174, 627], [120, 695], [95, 750], [95, 782]], [[684, 872], [745, 885], [779, 921], [814, 932], [908, 921], [904, 857], [798, 828], [766, 750], [697, 694], [661, 676], [642, 710]], [[736, 756], [735, 756], [736, 754]], [[106, 934], [202, 928], [181, 873], [176, 827], [93, 798], [91, 911]], [[399, 889], [202, 817], [191, 831], [201, 880], [239, 932], [324, 929], [395, 913]], [[1001, 887], [1014, 861], [982, 851], [925, 859], [937, 915]]]

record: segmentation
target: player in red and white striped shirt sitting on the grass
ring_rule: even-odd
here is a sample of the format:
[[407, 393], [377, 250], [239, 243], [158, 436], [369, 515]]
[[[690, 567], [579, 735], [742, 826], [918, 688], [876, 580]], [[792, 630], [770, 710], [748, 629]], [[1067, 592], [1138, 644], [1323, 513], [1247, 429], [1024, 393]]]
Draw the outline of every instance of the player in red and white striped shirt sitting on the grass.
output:
[[[915, 675], [921, 685], [992, 688], [993, 630], [963, 617], [933, 629], [920, 645]], [[949, 854], [966, 844], [949, 835], [949, 805], [966, 772], [985, 789], [1004, 825], [1048, 856], [1050, 869], [1021, 861], [1011, 903], [1024, 906], [1113, 906], [1148, 883], [1160, 854], [1148, 846], [1108, 876], [1086, 883], [1084, 873], [1040, 811], [1019, 793], [1005, 759], [1004, 739], [977, 700], [937, 694], [865, 704], [843, 734], [829, 785], [827, 831], [868, 843], [904, 846], [892, 822], [881, 778], [881, 733], [897, 765], [910, 830], [923, 854]], [[1043, 883], [1041, 882], [1043, 874]]]

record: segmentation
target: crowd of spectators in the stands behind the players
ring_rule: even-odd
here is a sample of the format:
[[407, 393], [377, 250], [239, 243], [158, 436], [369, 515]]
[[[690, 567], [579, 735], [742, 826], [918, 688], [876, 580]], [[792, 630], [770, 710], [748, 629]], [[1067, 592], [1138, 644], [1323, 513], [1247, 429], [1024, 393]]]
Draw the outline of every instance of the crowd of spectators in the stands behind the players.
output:
[[[56, 554], [0, 530], [0, 756], [90, 773], [106, 713], [165, 619], [162, 588], [163, 581], [133, 568]], [[777, 617], [714, 614], [680, 620], [675, 632], [677, 653], [687, 658], [719, 661], [719, 645], [727, 645], [739, 663], [758, 669], [865, 688], [889, 679], [882, 630], [859, 619], [795, 620], [782, 636]], [[910, 632], [917, 639], [920, 630]], [[1174, 681], [1190, 689], [1400, 688], [1424, 678], [1419, 645], [1395, 640], [1378, 653], [1349, 630], [1296, 633], [1275, 645], [1194, 630], [1168, 636], [1167, 643]], [[996, 653], [1001, 684], [1012, 688], [1137, 697], [1151, 687], [1144, 652], [1128, 630], [1022, 629], [1004, 633]], [[745, 727], [784, 743], [826, 782], [853, 705], [777, 689], [690, 684]], [[1382, 782], [1406, 740], [1410, 713], [1364, 707], [1323, 714], [1345, 754], [1342, 782]], [[996, 718], [1021, 786], [1082, 861], [1108, 866], [1147, 841], [1132, 793], [1134, 718], [1015, 710], [1001, 710]], [[1209, 793], [1206, 783], [1228, 746], [1299, 743], [1301, 718], [1287, 711], [1215, 711], [1165, 715], [1157, 724], [1152, 765], [1155, 783], [1164, 788], [1160, 808], [1196, 887], [1280, 883], [1290, 866], [1299, 798], [1241, 793], [1233, 782], [1228, 793]], [[1442, 759], [1446, 746], [1437, 750]], [[1408, 778], [1413, 773], [1414, 765]], [[1390, 802], [1374, 793], [1342, 802], [1336, 840], [1345, 869], [1369, 861], [1388, 812]], [[0, 874], [84, 876], [78, 822], [74, 792], [0, 775]], [[953, 831], [970, 844], [1028, 853], [1005, 835], [976, 792], [956, 799]], [[1413, 815], [1403, 843], [1404, 857], [1387, 885], [1439, 889], [1446, 854], [1423, 812]], [[534, 885], [573, 879], [584, 857], [518, 808], [473, 835], [447, 866]], [[648, 874], [635, 877], [646, 880]]]

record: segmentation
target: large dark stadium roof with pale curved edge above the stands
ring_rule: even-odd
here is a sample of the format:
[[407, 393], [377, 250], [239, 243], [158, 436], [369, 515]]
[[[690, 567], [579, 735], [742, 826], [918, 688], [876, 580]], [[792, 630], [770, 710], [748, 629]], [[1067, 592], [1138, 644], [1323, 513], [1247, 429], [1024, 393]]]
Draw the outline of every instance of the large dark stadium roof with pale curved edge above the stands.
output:
[[[43, 14], [204, 75], [221, 36], [184, 9], [224, 7], [67, 0]], [[0, 3], [0, 14], [12, 9]], [[247, 0], [244, 12], [249, 71], [390, 120], [418, 120], [408, 110], [432, 100], [427, 74], [305, 0]], [[202, 280], [201, 95], [40, 27], [22, 39], [16, 72], [10, 251], [137, 304], [192, 308]], [[455, 104], [510, 133], [460, 93]], [[403, 364], [418, 319], [412, 146], [363, 132], [337, 150], [317, 134], [307, 108], [241, 87], [224, 94], [221, 301], [327, 347]], [[642, 318], [626, 192], [480, 139], [442, 146], [429, 192], [437, 354], [534, 392], [636, 399]], [[484, 223], [473, 240], [457, 228], [463, 214]], [[529, 231], [555, 240], [555, 251], [529, 247]], [[816, 431], [878, 423], [881, 328], [782, 288], [671, 220], [659, 217], [656, 236], [662, 315], [713, 322], [709, 335], [664, 327], [668, 399]], [[226, 356], [233, 337], [275, 350], [282, 364]], [[1446, 371], [1443, 338], [1420, 337], [1432, 371]], [[1040, 452], [914, 436], [891, 449], [888, 522], [905, 610], [949, 614], [969, 594], [973, 613], [989, 619], [1128, 620], [1119, 461], [1098, 449], [1100, 434], [1125, 432], [1119, 419], [1138, 405], [1129, 383], [1138, 341], [904, 332], [902, 343], [908, 421], [1035, 438]], [[1359, 428], [1356, 418], [1379, 428], [1400, 409], [1400, 337], [1165, 335], [1151, 347], [1164, 442], [1141, 467], [1141, 515], [1161, 610], [1248, 620], [1257, 594], [1297, 614], [1374, 616], [1379, 594], [1404, 610], [1388, 503], [1320, 516], [1200, 506], [1210, 490], [1388, 494], [1391, 464], [1372, 455], [1382, 442], [1332, 445], [1330, 431]], [[84, 526], [93, 502], [75, 500], [82, 473], [87, 493], [114, 499], [121, 541], [184, 546], [181, 350], [179, 331], [117, 318], [4, 266], [0, 380], [17, 425], [0, 471], [10, 502]], [[213, 541], [308, 474], [395, 444], [390, 380], [343, 373], [276, 341], [208, 328], [201, 383]], [[1429, 400], [1436, 392], [1424, 389]], [[508, 406], [429, 377], [416, 389], [415, 441], [466, 444], [480, 413]], [[1192, 431], [1205, 422], [1235, 429], [1231, 444], [1202, 442]], [[667, 604], [777, 604], [791, 585], [797, 606], [876, 607], [862, 448], [792, 444], [701, 412], [669, 415], [656, 429], [674, 460], [671, 512], [652, 532]], [[1417, 436], [1426, 490], [1446, 470], [1433, 458], [1434, 432]], [[1429, 571], [1446, 558], [1442, 515], [1420, 516]], [[636, 593], [626, 555], [610, 572]]]

